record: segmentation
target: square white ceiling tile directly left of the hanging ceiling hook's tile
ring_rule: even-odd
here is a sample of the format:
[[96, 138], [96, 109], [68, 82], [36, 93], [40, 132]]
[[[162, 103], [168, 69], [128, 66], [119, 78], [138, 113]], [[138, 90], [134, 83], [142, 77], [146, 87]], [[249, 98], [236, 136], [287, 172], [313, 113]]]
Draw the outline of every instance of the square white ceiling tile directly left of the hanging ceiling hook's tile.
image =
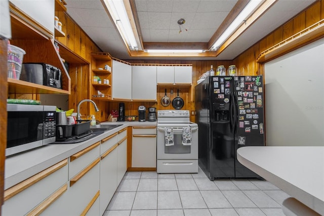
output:
[[148, 13], [148, 24], [150, 29], [169, 29], [170, 21], [171, 13]]

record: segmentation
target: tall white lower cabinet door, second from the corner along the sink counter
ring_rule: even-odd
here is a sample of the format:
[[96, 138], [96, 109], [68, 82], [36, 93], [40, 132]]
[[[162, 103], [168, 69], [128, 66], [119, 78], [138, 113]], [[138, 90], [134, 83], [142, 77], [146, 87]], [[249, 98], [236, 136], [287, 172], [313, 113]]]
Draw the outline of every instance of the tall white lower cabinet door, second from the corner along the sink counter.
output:
[[103, 215], [117, 189], [117, 146], [101, 155], [100, 161], [100, 214]]

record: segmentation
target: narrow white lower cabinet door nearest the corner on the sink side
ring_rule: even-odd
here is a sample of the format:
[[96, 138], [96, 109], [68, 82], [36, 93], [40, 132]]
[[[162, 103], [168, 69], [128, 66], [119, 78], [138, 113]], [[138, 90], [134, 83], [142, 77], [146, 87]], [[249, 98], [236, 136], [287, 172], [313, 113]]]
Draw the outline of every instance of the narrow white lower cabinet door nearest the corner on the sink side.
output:
[[117, 147], [117, 185], [123, 179], [127, 170], [127, 137], [118, 142]]

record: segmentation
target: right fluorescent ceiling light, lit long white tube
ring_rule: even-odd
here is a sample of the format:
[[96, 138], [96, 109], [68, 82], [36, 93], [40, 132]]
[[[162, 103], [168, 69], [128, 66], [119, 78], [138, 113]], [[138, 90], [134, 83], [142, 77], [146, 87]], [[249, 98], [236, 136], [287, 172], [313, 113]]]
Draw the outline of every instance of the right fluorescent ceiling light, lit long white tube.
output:
[[217, 50], [229, 37], [231, 33], [248, 18], [253, 10], [255, 10], [262, 0], [251, 0], [248, 5], [238, 14], [234, 21], [226, 28], [223, 34], [218, 38], [218, 40], [212, 46], [212, 50]]

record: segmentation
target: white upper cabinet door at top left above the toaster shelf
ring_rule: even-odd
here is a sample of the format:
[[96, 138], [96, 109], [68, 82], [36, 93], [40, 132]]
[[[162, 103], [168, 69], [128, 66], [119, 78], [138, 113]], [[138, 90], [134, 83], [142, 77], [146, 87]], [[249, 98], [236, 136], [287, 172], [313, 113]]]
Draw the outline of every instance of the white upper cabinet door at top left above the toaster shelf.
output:
[[54, 35], [55, 0], [21, 1], [10, 0], [17, 8], [41, 24]]

